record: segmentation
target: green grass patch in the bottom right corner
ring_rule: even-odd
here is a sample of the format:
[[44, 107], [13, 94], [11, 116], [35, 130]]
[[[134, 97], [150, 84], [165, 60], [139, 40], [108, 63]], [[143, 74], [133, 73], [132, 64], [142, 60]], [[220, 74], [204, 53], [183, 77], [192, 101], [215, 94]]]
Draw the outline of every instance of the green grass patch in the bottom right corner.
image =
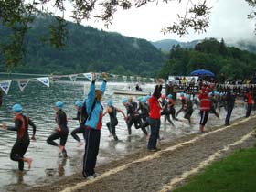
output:
[[256, 192], [256, 148], [214, 162], [174, 192]]

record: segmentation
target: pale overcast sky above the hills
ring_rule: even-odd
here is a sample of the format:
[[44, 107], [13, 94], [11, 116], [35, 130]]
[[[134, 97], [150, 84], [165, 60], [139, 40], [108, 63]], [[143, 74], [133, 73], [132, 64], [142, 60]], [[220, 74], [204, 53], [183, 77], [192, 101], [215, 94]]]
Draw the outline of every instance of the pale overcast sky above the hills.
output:
[[[83, 22], [106, 31], [115, 31], [123, 36], [145, 38], [150, 41], [161, 39], [176, 39], [179, 41], [192, 41], [205, 37], [223, 37], [225, 40], [254, 39], [254, 23], [247, 19], [251, 8], [245, 0], [208, 0], [212, 6], [210, 23], [207, 32], [198, 35], [191, 31], [185, 37], [174, 34], [164, 35], [161, 28], [176, 21], [176, 14], [185, 13], [184, 4], [177, 1], [169, 4], [150, 4], [142, 8], [128, 11], [119, 11], [114, 15], [112, 26], [104, 27], [102, 22]], [[187, 1], [184, 1], [187, 3]]]

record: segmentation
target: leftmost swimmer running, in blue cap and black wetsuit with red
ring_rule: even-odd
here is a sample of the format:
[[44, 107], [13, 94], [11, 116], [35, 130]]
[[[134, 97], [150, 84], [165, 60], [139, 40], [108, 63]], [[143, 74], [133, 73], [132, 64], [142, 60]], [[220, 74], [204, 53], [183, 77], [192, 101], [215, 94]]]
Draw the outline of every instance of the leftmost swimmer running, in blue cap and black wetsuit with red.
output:
[[12, 108], [15, 112], [15, 126], [7, 126], [6, 123], [2, 124], [5, 130], [16, 131], [16, 143], [14, 144], [11, 151], [11, 160], [18, 162], [18, 169], [22, 173], [24, 170], [24, 162], [27, 163], [28, 169], [31, 168], [32, 158], [24, 157], [27, 152], [27, 148], [30, 144], [30, 139], [28, 135], [28, 125], [33, 127], [33, 134], [31, 139], [36, 140], [35, 134], [37, 131], [36, 125], [24, 114], [22, 114], [22, 107], [20, 104], [15, 104]]

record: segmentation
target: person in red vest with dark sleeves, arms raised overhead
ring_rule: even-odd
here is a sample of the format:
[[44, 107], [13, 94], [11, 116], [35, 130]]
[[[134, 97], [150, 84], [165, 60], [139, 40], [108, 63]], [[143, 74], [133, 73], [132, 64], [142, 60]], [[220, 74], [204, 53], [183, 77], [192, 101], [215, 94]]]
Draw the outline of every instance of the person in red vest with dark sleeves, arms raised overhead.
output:
[[162, 80], [157, 80], [158, 84], [155, 86], [155, 91], [151, 98], [149, 99], [149, 118], [148, 122], [150, 125], [151, 134], [147, 144], [148, 151], [157, 151], [159, 149], [156, 148], [157, 137], [159, 135], [160, 130], [160, 118], [161, 118], [161, 107], [158, 99], [161, 97], [162, 91]]

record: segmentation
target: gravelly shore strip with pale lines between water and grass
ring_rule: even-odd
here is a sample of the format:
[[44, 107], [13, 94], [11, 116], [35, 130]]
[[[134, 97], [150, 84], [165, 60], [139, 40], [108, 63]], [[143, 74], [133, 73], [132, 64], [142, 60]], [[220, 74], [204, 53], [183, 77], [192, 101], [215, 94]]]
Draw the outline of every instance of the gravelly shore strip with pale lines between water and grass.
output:
[[[241, 144], [237, 141], [253, 131], [256, 124], [256, 116], [240, 118], [228, 127], [215, 127], [208, 129], [208, 133], [192, 133], [174, 141], [161, 142], [159, 152], [149, 153], [144, 147], [137, 153], [126, 155], [124, 158], [112, 161], [109, 164], [96, 167], [100, 176], [88, 181], [81, 173], [73, 176], [65, 176], [61, 179], [37, 187], [28, 188], [28, 192], [113, 192], [113, 191], [171, 191], [166, 185], [183, 173], [198, 167], [202, 161], [219, 151], [222, 158], [235, 150], [251, 147], [255, 143], [255, 137], [250, 136]], [[233, 145], [232, 145], [233, 144]], [[230, 145], [228, 150], [225, 146]], [[170, 148], [171, 147], [171, 148]], [[201, 170], [201, 169], [199, 169]], [[186, 179], [177, 182], [176, 186], [186, 183]]]

